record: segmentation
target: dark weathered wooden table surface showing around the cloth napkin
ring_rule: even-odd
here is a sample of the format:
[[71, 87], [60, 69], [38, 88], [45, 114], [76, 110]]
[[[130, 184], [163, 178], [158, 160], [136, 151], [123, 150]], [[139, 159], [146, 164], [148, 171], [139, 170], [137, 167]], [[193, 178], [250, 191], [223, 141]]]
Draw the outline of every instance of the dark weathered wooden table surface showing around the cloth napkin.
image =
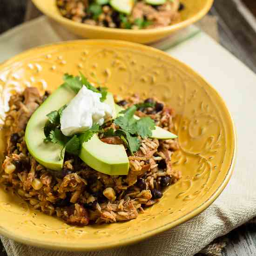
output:
[[[243, 1], [256, 15], [256, 0]], [[27, 0], [0, 1], [0, 33], [23, 22], [26, 3]], [[256, 30], [251, 26], [253, 20], [248, 19], [247, 12], [240, 6], [240, 0], [215, 0], [210, 14], [218, 17], [221, 45], [256, 73]], [[256, 256], [256, 223], [245, 224], [226, 238], [228, 245], [220, 255]], [[7, 256], [1, 243], [0, 256]]]

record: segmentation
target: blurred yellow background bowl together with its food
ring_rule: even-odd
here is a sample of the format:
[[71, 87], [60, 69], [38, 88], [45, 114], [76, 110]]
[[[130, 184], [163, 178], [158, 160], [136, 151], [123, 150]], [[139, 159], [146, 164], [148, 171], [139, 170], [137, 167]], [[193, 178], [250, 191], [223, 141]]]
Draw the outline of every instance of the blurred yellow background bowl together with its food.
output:
[[149, 43], [200, 20], [213, 0], [33, 0], [83, 38]]

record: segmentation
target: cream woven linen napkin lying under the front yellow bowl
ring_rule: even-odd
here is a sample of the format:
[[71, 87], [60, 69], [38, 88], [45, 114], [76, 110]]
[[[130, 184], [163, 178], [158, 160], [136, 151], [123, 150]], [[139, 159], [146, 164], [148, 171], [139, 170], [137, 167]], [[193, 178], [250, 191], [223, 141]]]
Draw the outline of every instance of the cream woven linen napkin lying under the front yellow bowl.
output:
[[[36, 45], [76, 38], [50, 23], [41, 17], [3, 34], [0, 37], [1, 60]], [[236, 167], [227, 188], [200, 215], [141, 243], [112, 250], [71, 253], [34, 248], [1, 237], [8, 256], [193, 256], [216, 237], [256, 216], [256, 75], [196, 27], [189, 27], [180, 36], [176, 34], [175, 40], [172, 37], [155, 46], [202, 74], [227, 102], [238, 136]]]

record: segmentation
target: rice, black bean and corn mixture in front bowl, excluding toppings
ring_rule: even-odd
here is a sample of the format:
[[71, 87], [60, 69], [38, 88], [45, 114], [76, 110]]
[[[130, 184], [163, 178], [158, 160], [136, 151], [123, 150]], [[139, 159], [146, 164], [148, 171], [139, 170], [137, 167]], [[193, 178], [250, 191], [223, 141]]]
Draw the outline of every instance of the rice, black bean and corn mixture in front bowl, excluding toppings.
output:
[[[7, 148], [0, 183], [34, 209], [56, 215], [72, 225], [131, 220], [143, 212], [143, 208], [158, 202], [162, 191], [181, 178], [181, 173], [171, 165], [172, 152], [179, 148], [177, 140], [143, 139], [135, 155], [128, 156], [128, 175], [97, 172], [79, 157], [68, 154], [61, 171], [40, 165], [27, 151], [24, 134], [29, 117], [47, 96], [41, 97], [36, 88], [13, 95], [5, 122]], [[141, 99], [133, 95], [117, 103], [127, 108], [138, 102]], [[150, 116], [158, 126], [172, 131], [173, 109], [157, 104], [158, 110], [141, 109], [136, 115]], [[105, 129], [109, 127], [116, 128], [113, 123]], [[100, 138], [105, 139], [102, 135]]]

